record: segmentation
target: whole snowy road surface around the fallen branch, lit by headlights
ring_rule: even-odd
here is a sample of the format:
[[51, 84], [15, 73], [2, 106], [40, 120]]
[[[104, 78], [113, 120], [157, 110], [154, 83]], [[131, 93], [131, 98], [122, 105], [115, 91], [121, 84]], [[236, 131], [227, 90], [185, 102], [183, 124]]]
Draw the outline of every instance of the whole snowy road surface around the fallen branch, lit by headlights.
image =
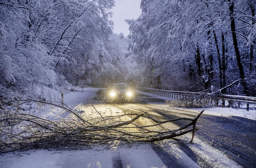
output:
[[[85, 99], [96, 96], [98, 89], [85, 89], [84, 93], [71, 92], [66, 104], [85, 111]], [[109, 108], [120, 113], [127, 109], [143, 109], [158, 120], [178, 117], [195, 117], [202, 109], [171, 108], [149, 95], [139, 95], [143, 103], [102, 104], [94, 101], [99, 110]], [[238, 113], [237, 115], [235, 113]], [[0, 156], [4, 167], [256, 167], [255, 111], [244, 116], [243, 110], [230, 108], [206, 109], [198, 120], [203, 128], [197, 131], [194, 142], [188, 143], [191, 133], [180, 141], [164, 140], [151, 144], [117, 146], [109, 150], [95, 147], [90, 150], [48, 151], [30, 150], [23, 157], [8, 153]], [[243, 115], [243, 116], [242, 116]], [[248, 118], [245, 118], [248, 117]], [[143, 123], [137, 123], [143, 124]], [[166, 128], [180, 126], [182, 121]], [[26, 153], [26, 154], [25, 154]], [[17, 154], [17, 153], [16, 153]]]

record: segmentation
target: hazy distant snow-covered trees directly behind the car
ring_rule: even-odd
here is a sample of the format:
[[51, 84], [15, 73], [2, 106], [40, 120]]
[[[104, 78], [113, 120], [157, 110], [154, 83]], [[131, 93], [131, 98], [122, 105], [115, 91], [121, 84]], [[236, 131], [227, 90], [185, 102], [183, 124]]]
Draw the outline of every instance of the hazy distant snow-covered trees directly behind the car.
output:
[[[89, 60], [94, 69], [91, 75], [93, 84], [109, 85], [111, 83], [129, 82], [135, 80], [136, 74], [133, 63], [133, 54], [127, 56], [129, 40], [120, 38], [118, 34], [112, 34], [105, 41], [98, 41], [94, 56]], [[87, 77], [88, 78], [88, 75]]]

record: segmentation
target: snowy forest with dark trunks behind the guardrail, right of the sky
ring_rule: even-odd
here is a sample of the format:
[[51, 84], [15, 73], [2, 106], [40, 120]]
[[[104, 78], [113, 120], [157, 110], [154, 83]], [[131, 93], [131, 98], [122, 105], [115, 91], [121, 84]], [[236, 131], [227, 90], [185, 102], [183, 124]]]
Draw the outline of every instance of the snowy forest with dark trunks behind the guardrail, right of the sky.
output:
[[[142, 0], [126, 20], [147, 87], [255, 96], [255, 0]], [[210, 92], [210, 91], [208, 91]]]

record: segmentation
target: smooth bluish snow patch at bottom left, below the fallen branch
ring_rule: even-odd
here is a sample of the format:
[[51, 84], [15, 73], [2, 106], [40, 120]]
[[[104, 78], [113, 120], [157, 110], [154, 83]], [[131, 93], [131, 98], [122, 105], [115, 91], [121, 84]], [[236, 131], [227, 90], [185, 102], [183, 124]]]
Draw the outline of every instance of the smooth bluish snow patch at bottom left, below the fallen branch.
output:
[[14, 157], [12, 153], [0, 156], [0, 168], [116, 168], [120, 167], [120, 164], [124, 168], [166, 167], [150, 144], [123, 146], [111, 150], [29, 150], [20, 155], [22, 157]]

